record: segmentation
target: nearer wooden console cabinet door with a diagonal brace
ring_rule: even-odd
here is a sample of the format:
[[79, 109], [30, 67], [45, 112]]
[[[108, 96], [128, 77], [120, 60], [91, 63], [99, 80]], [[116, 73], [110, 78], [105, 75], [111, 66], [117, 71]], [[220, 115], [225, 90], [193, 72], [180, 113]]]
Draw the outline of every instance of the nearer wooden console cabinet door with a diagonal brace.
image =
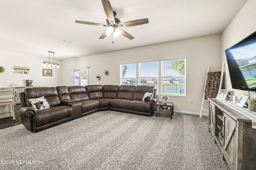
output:
[[231, 169], [237, 169], [238, 130], [236, 120], [224, 112], [223, 154]]

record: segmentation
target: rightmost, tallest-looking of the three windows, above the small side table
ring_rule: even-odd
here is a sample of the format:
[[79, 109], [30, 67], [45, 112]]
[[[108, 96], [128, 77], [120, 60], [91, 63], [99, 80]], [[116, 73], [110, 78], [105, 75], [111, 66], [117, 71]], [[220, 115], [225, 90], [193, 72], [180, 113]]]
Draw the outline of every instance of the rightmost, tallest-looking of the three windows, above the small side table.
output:
[[186, 59], [161, 61], [162, 94], [186, 96]]

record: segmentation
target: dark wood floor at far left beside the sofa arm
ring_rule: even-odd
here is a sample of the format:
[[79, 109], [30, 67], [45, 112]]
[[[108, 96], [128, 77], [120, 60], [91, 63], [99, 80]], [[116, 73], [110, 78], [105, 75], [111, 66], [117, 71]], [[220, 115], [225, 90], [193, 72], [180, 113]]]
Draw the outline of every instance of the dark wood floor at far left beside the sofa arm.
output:
[[6, 118], [0, 119], [0, 129], [4, 129], [6, 127], [11, 127], [11, 126], [21, 124], [20, 104], [16, 104], [16, 106], [14, 106], [14, 113], [15, 113], [15, 119], [16, 120], [13, 120], [12, 117], [6, 117]]

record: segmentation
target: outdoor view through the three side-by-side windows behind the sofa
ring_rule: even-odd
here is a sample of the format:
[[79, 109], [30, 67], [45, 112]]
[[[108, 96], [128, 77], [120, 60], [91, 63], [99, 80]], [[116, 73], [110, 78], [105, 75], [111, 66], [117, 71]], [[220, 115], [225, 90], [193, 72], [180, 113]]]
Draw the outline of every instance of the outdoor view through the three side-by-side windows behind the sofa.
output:
[[[161, 61], [162, 69], [158, 69], [158, 61], [144, 63], [129, 63], [120, 65], [120, 84], [161, 86], [161, 94], [185, 96], [186, 94], [186, 59]], [[136, 78], [136, 72], [139, 72]], [[161, 77], [158, 74], [161, 72]]]

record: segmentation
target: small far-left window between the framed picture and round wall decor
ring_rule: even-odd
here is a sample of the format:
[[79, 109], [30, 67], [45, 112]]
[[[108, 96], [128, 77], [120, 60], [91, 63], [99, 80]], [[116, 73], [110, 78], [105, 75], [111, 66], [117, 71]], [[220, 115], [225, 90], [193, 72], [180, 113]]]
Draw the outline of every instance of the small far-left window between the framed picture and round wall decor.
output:
[[74, 70], [73, 75], [74, 75], [74, 80], [73, 80], [74, 86], [88, 85], [88, 68]]

